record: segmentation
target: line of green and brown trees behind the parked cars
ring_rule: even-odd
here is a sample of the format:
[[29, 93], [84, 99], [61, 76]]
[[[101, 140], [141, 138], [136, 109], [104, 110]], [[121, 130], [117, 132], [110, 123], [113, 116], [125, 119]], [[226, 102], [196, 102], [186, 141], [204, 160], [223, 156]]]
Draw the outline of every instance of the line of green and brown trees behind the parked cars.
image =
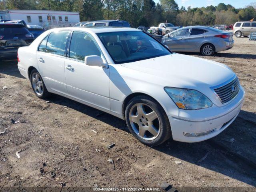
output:
[[234, 24], [256, 19], [256, 2], [245, 8], [230, 4], [201, 8], [178, 7], [175, 0], [0, 0], [0, 10], [62, 10], [80, 13], [80, 21], [126, 20], [132, 27], [156, 26], [170, 22], [176, 26]]

